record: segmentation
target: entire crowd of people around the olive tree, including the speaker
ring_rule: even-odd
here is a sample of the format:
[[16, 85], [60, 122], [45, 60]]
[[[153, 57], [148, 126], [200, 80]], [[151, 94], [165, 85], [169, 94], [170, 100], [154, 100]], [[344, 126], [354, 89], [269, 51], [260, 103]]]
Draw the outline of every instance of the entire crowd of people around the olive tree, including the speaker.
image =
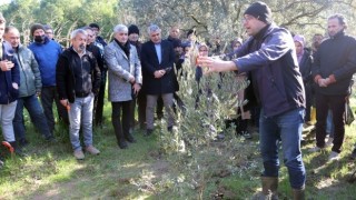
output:
[[[107, 43], [99, 36], [100, 27], [90, 23], [73, 30], [71, 47], [62, 49], [51, 27], [40, 23], [30, 28], [33, 41], [29, 47], [22, 46], [20, 31], [6, 27], [6, 19], [0, 14], [2, 144], [16, 154], [23, 153], [21, 148], [29, 143], [23, 108], [43, 140], [56, 141], [55, 102], [59, 120], [69, 127], [75, 158], [85, 159], [85, 152], [99, 154], [93, 146], [92, 126], [105, 122], [102, 109], [108, 79], [113, 131], [118, 147], [127, 149], [129, 143], [137, 142], [132, 134], [136, 110], [145, 137], [154, 133], [155, 114], [162, 118], [165, 113], [167, 130], [172, 131], [176, 109], [185, 109], [177, 94], [177, 77], [184, 76], [184, 66], [195, 68], [198, 88], [204, 68], [207, 73], [235, 71], [238, 81], [250, 81], [248, 88], [236, 94], [239, 101], [248, 99], [249, 103], [239, 107], [238, 119], [227, 121], [227, 126], [235, 123], [236, 134], [250, 139], [248, 120], [259, 121], [256, 123], [265, 169], [263, 194], [278, 198], [280, 143], [294, 198], [304, 199], [303, 127], [316, 121], [316, 146], [309, 151], [333, 146], [329, 160], [339, 159], [345, 137], [345, 104], [356, 72], [356, 40], [345, 32], [345, 17], [334, 14], [327, 19], [328, 37], [315, 34], [309, 49], [304, 36], [291, 34], [274, 23], [271, 11], [264, 2], [250, 4], [243, 23], [249, 38], [245, 42], [239, 38], [233, 40], [229, 52], [224, 52], [218, 37], [212, 44], [198, 42], [195, 30], [189, 30], [182, 42], [178, 26], [170, 27], [164, 40], [157, 24], [148, 27], [149, 40], [144, 43], [139, 41], [137, 26], [117, 24], [112, 41]], [[226, 59], [209, 57], [215, 54], [224, 54]], [[328, 141], [327, 133], [330, 133]], [[356, 149], [353, 156], [356, 158]]]

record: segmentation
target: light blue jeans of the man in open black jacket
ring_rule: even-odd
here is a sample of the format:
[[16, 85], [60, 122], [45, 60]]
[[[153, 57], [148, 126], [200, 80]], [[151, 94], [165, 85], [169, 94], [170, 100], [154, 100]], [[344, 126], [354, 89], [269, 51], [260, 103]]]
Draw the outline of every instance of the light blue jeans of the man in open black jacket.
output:
[[81, 149], [79, 130], [82, 128], [85, 146], [92, 144], [92, 107], [93, 93], [85, 98], [76, 98], [73, 103], [69, 103], [69, 137], [73, 150]]

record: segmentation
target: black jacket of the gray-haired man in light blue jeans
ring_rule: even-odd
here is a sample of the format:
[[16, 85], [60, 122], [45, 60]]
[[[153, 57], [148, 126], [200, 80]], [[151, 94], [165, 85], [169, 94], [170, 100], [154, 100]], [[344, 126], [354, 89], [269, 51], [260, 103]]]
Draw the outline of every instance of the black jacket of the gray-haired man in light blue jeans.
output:
[[75, 78], [75, 67], [83, 64], [82, 62], [89, 62], [91, 66], [90, 79], [92, 86], [92, 92], [98, 93], [100, 88], [100, 69], [97, 63], [96, 58], [90, 51], [87, 51], [81, 58], [78, 53], [69, 48], [63, 51], [57, 62], [56, 68], [56, 79], [57, 79], [57, 90], [59, 99], [68, 99], [69, 102], [75, 102], [76, 100], [76, 78]]

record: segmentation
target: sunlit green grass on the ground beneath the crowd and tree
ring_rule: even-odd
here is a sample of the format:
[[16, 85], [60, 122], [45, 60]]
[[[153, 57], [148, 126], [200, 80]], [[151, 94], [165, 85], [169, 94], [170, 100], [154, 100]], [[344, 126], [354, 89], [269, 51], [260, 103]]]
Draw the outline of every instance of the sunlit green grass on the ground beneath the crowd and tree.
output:
[[[110, 107], [106, 106], [106, 119]], [[0, 171], [0, 199], [254, 199], [260, 191], [261, 160], [258, 138], [245, 141], [227, 134], [191, 154], [162, 153], [158, 129], [150, 138], [135, 130], [137, 143], [121, 150], [107, 120], [95, 128], [99, 156], [77, 161], [68, 131], [59, 126], [56, 143], [46, 143], [27, 122], [30, 144], [24, 158], [8, 158]], [[356, 186], [348, 179], [356, 170], [350, 160], [356, 142], [355, 124], [346, 127], [342, 159], [327, 162], [329, 149], [310, 153], [314, 136], [303, 146], [307, 169], [307, 199], [355, 199]], [[162, 132], [162, 134], [166, 134]], [[170, 136], [167, 136], [170, 137]], [[280, 169], [279, 197], [290, 199], [287, 170]]]

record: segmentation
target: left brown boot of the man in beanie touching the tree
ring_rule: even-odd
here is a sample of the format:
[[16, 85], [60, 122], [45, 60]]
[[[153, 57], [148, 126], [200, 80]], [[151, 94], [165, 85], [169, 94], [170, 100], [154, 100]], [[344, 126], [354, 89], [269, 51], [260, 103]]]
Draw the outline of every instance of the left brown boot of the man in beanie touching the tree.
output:
[[264, 200], [278, 199], [278, 177], [261, 177], [263, 181], [263, 197]]

